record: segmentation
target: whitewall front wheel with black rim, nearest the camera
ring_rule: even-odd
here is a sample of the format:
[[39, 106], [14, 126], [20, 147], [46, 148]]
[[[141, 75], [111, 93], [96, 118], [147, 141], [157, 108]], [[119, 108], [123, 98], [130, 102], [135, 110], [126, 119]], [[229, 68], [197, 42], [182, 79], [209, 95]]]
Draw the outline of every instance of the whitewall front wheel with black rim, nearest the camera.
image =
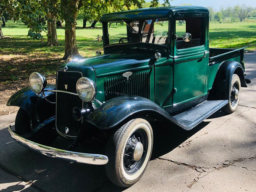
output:
[[147, 120], [133, 119], [124, 124], [108, 140], [108, 178], [121, 187], [135, 184], [148, 165], [152, 147], [153, 131]]

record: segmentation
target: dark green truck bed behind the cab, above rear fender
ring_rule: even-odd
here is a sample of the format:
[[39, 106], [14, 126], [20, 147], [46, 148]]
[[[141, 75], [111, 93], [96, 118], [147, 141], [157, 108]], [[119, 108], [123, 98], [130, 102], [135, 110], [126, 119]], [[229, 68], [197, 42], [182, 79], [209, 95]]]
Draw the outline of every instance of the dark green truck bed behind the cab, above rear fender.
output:
[[214, 65], [233, 58], [237, 60], [237, 57], [240, 57], [239, 62], [243, 65], [243, 52], [245, 48], [246, 47], [241, 49], [210, 48], [209, 65]]

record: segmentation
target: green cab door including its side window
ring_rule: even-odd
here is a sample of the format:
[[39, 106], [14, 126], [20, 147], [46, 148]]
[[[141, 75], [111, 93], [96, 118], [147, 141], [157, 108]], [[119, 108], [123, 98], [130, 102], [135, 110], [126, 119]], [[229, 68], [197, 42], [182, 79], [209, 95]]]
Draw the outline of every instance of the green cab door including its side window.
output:
[[[182, 104], [207, 94], [206, 15], [178, 14], [174, 20], [174, 101]], [[182, 37], [190, 33], [190, 41]]]

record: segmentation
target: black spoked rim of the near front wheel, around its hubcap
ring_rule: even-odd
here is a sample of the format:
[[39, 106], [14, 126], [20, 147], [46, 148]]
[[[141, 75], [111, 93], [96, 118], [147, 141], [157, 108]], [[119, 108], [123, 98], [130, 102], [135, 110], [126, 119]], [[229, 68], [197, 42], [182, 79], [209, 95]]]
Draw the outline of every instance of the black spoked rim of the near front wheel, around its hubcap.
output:
[[[135, 161], [133, 158], [133, 152], [135, 150], [136, 143], [142, 143], [143, 145], [143, 154], [138, 161]], [[147, 156], [148, 151], [148, 135], [144, 129], [137, 129], [134, 133], [131, 134], [131, 137], [128, 139], [125, 145], [124, 159], [123, 164], [125, 172], [129, 175], [135, 174], [143, 165], [144, 160]]]

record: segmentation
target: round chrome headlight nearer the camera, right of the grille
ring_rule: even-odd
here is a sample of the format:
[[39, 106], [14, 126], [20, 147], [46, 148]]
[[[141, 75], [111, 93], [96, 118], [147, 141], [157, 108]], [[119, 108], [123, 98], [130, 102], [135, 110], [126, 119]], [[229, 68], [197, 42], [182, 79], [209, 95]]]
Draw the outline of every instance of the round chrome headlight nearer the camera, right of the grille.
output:
[[96, 93], [96, 85], [91, 79], [82, 77], [76, 83], [76, 91], [79, 97], [86, 102], [92, 101]]

